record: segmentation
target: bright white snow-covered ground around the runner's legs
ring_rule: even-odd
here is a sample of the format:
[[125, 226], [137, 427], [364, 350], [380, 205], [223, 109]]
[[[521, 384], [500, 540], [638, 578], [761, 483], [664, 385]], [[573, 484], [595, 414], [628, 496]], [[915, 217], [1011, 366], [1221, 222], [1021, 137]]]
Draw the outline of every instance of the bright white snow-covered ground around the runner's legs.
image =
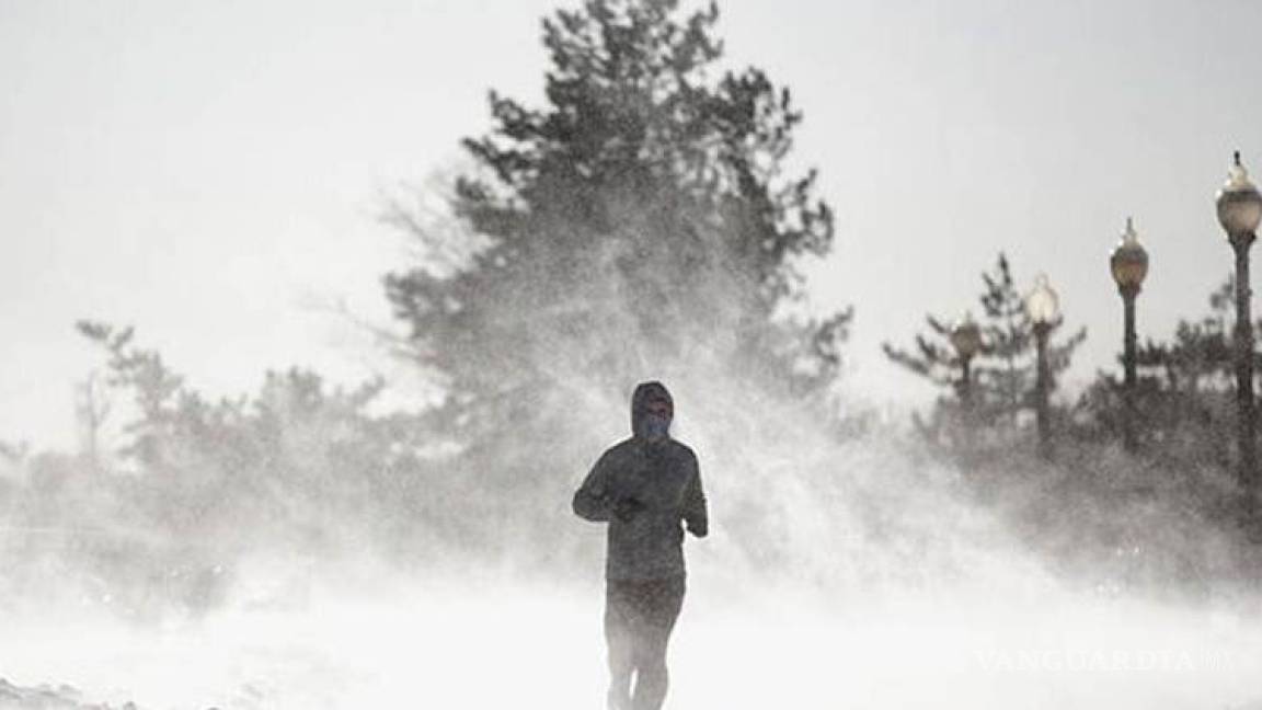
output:
[[[0, 676], [143, 710], [602, 706], [598, 585], [363, 584], [159, 629], [6, 622]], [[1247, 609], [1046, 586], [842, 600], [689, 585], [668, 707], [1262, 709]]]

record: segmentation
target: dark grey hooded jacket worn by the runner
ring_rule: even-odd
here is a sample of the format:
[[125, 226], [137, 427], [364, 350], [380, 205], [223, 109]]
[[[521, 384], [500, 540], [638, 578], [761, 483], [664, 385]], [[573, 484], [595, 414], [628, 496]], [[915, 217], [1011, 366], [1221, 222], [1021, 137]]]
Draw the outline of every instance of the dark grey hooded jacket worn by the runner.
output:
[[604, 576], [651, 580], [683, 576], [684, 526], [705, 537], [709, 519], [697, 455], [669, 435], [644, 436], [650, 399], [674, 402], [660, 382], [640, 383], [631, 395], [631, 437], [613, 445], [574, 493], [574, 513], [608, 523]]

